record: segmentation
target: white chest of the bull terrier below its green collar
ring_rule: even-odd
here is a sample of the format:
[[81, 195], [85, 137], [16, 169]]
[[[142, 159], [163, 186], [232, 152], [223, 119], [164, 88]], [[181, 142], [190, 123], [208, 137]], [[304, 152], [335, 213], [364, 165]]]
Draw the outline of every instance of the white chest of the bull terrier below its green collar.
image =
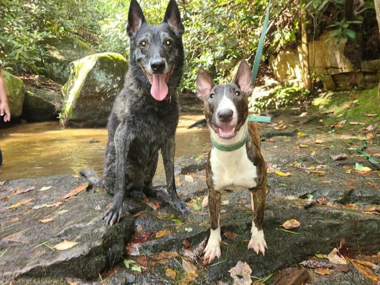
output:
[[210, 157], [214, 189], [242, 190], [256, 186], [256, 167], [247, 156], [245, 146], [225, 152], [212, 148]]

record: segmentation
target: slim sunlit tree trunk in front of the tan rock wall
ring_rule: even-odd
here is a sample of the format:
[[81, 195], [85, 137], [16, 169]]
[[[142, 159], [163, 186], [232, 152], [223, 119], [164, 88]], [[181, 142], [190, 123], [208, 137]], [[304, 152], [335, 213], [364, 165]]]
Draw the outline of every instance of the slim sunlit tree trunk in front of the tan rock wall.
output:
[[302, 77], [304, 81], [304, 89], [310, 90], [312, 87], [312, 80], [310, 78], [309, 69], [309, 47], [308, 47], [308, 27], [307, 18], [308, 12], [304, 6], [304, 0], [300, 0], [300, 18], [301, 18], [301, 66]]

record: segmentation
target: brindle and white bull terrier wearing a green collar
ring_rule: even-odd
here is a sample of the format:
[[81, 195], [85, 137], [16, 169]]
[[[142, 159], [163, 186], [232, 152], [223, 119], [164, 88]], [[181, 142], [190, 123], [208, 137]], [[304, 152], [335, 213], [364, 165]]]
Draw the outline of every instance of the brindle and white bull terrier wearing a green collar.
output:
[[211, 230], [204, 260], [211, 262], [221, 254], [219, 214], [221, 194], [225, 189], [251, 191], [253, 220], [248, 248], [264, 254], [266, 243], [262, 222], [266, 168], [257, 125], [248, 121], [248, 98], [253, 91], [251, 69], [246, 61], [242, 61], [234, 84], [214, 85], [200, 67], [196, 85], [197, 96], [204, 102], [213, 144], [206, 167]]

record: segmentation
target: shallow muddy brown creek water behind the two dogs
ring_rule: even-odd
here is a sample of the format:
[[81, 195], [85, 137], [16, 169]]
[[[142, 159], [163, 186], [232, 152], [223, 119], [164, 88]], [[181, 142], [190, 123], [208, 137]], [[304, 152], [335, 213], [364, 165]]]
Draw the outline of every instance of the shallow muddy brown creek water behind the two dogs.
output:
[[[209, 149], [208, 129], [187, 129], [201, 118], [202, 115], [181, 115], [176, 134], [176, 158], [190, 152], [207, 152]], [[61, 129], [57, 121], [0, 129], [3, 156], [0, 181], [77, 173], [81, 168], [93, 168], [102, 174], [106, 141], [106, 128]], [[161, 158], [157, 172], [163, 173]]]

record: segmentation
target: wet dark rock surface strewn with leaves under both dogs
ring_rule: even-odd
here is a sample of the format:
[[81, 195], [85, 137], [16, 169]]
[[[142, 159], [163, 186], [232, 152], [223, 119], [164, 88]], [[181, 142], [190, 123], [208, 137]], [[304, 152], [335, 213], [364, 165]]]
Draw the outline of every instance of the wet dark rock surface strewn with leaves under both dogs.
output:
[[[221, 258], [204, 265], [199, 254], [194, 254], [208, 237], [209, 224], [208, 209], [200, 206], [207, 194], [207, 154], [192, 154], [176, 163], [177, 191], [191, 208], [186, 217], [179, 216], [165, 201], [128, 200], [134, 206], [132, 213], [125, 212], [121, 222], [110, 227], [101, 219], [112, 197], [103, 189], [85, 187], [87, 181], [82, 177], [58, 175], [0, 183], [1, 284], [102, 284], [99, 274], [107, 285], [188, 284], [189, 263], [196, 272], [193, 284], [233, 284], [228, 270], [238, 261], [250, 265], [252, 276], [264, 277], [317, 253], [328, 254], [341, 238], [354, 256], [376, 254], [380, 244], [380, 172], [354, 150], [361, 146], [365, 134], [359, 129], [328, 133], [322, 124], [306, 126], [294, 117], [288, 121], [276, 118], [276, 122], [280, 119], [284, 119], [285, 129], [260, 127], [269, 185], [263, 228], [268, 244], [265, 257], [247, 249], [252, 223], [248, 191], [222, 196]], [[289, 132], [295, 134], [284, 135]], [[268, 133], [274, 135], [266, 136]], [[366, 151], [378, 159], [380, 147], [369, 143]], [[341, 154], [347, 158], [331, 158]], [[372, 171], [358, 172], [356, 163]], [[287, 172], [289, 176], [279, 175]], [[155, 179], [155, 185], [159, 190], [164, 188], [162, 175]], [[44, 186], [52, 187], [40, 191]], [[85, 189], [64, 199], [78, 187]], [[310, 203], [316, 199], [324, 202]], [[21, 201], [28, 202], [9, 209]], [[36, 207], [56, 202], [62, 203]], [[40, 222], [49, 218], [53, 221]], [[281, 225], [289, 219], [298, 220], [301, 227], [284, 231]], [[64, 240], [77, 243], [61, 251], [53, 248]], [[175, 272], [174, 279], [168, 269]], [[333, 285], [337, 280], [372, 284], [352, 265], [348, 272], [334, 269], [328, 276], [310, 274], [314, 277], [308, 284], [313, 285]], [[274, 277], [265, 284], [272, 282]]]

